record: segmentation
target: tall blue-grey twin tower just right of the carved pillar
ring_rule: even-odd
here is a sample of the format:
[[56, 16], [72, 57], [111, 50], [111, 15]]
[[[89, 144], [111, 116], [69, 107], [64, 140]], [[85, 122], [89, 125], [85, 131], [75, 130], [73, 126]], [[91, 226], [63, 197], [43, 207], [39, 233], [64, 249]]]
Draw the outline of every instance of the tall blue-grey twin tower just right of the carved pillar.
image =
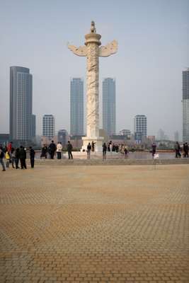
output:
[[110, 136], [115, 134], [115, 79], [103, 80], [103, 129]]

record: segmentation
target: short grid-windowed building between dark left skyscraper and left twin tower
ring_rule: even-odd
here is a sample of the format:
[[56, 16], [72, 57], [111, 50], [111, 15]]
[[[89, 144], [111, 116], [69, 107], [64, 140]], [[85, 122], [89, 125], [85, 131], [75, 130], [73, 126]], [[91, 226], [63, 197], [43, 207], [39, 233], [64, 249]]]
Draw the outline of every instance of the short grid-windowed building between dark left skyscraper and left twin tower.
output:
[[44, 115], [42, 117], [42, 136], [52, 139], [55, 136], [55, 117]]

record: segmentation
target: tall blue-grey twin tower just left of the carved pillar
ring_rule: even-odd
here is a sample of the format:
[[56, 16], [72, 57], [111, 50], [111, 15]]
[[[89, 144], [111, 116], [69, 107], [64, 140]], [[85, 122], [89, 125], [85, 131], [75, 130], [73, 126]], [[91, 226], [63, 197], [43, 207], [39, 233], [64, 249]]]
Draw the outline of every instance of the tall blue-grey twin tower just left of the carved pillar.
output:
[[84, 81], [80, 78], [70, 82], [70, 134], [84, 135]]

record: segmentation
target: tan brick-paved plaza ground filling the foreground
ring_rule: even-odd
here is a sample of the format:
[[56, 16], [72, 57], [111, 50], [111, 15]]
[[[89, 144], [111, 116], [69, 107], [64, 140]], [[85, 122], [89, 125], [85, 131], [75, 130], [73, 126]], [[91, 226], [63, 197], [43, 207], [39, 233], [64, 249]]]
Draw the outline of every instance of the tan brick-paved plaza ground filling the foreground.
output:
[[189, 282], [189, 166], [0, 172], [0, 282]]

